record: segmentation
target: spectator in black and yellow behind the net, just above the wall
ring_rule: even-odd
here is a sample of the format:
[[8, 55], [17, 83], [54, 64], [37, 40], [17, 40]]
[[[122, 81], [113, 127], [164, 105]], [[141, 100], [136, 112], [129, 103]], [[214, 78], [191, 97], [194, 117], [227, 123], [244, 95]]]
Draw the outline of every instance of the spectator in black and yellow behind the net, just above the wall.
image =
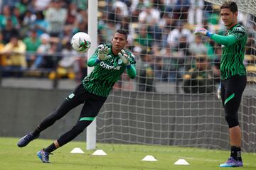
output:
[[186, 94], [213, 93], [213, 70], [206, 55], [196, 56], [196, 68], [183, 75], [183, 90]]

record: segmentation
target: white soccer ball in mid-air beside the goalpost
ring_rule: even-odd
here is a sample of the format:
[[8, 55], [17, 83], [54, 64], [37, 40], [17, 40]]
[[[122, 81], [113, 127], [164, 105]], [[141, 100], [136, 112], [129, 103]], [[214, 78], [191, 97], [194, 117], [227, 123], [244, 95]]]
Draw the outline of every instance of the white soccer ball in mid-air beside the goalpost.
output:
[[86, 52], [90, 48], [91, 39], [87, 33], [78, 32], [73, 35], [70, 43], [75, 51]]

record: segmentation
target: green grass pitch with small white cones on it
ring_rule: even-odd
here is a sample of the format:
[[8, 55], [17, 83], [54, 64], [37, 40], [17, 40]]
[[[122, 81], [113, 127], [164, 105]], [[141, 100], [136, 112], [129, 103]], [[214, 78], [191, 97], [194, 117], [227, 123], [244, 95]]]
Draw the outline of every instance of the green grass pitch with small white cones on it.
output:
[[[36, 157], [36, 152], [42, 147], [50, 145], [52, 140], [35, 140], [23, 148], [16, 146], [17, 141], [18, 138], [0, 137], [1, 170], [210, 170], [221, 169], [218, 168], [218, 165], [223, 163], [230, 154], [228, 151], [188, 147], [97, 144], [97, 148], [103, 149], [107, 156], [92, 156], [94, 151], [87, 151], [85, 142], [70, 142], [55, 150], [54, 155], [50, 155], [50, 164], [43, 164]], [[70, 154], [70, 151], [75, 147], [80, 147], [85, 154]], [[148, 154], [153, 155], [158, 161], [142, 162], [142, 159]], [[242, 156], [245, 166], [236, 169], [255, 170], [256, 154], [243, 153]], [[190, 165], [174, 165], [178, 159], [186, 159]]]

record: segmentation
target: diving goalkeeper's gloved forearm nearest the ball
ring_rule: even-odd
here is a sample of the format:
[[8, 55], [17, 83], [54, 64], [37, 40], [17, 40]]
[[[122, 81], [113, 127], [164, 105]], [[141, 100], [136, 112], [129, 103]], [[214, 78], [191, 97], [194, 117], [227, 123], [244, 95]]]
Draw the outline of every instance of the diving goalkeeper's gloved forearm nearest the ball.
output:
[[104, 45], [100, 45], [93, 53], [92, 57], [87, 62], [89, 67], [94, 67], [95, 65], [99, 64], [102, 60], [107, 60], [111, 56], [108, 55], [110, 53], [110, 48], [105, 47]]

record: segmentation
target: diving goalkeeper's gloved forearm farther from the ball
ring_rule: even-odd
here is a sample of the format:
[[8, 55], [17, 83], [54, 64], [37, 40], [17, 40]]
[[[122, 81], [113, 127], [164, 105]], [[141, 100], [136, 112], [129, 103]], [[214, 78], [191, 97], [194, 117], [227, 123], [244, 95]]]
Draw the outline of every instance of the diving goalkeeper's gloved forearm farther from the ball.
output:
[[124, 50], [121, 50], [118, 55], [121, 58], [122, 62], [126, 64], [127, 74], [129, 78], [134, 79], [137, 74], [135, 68], [135, 57], [133, 55], [129, 57]]

